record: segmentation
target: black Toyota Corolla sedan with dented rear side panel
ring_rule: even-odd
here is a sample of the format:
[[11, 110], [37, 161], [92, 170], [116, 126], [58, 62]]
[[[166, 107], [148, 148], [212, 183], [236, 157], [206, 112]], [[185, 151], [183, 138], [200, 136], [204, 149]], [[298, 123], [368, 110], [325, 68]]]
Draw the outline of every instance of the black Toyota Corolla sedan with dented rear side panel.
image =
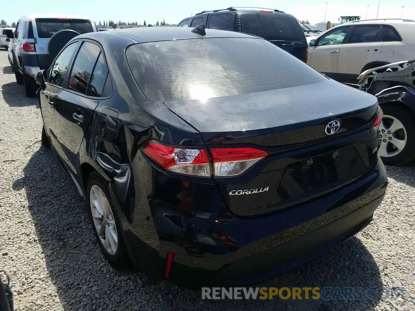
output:
[[37, 82], [42, 144], [103, 254], [156, 277], [272, 277], [367, 226], [386, 191], [376, 97], [259, 37], [83, 34]]

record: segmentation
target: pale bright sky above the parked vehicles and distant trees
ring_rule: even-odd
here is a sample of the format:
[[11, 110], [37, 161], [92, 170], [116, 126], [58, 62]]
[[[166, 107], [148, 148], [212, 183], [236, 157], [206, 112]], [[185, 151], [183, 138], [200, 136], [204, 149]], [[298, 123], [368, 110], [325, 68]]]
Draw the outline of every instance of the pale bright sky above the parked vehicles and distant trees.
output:
[[[24, 14], [61, 13], [86, 15], [98, 23], [105, 19], [115, 22], [135, 21], [147, 24], [165, 19], [168, 23], [178, 23], [184, 17], [203, 10], [215, 10], [229, 6], [271, 7], [290, 13], [298, 19], [308, 19], [312, 24], [323, 22], [327, 4], [326, 21], [337, 22], [341, 15], [361, 15], [362, 19], [376, 18], [378, 0], [174, 0], [174, 1], [116, 1], [116, 0], [69, 0], [42, 2], [33, 0], [7, 1], [0, 11], [0, 19], [8, 24], [16, 22]], [[412, 2], [412, 3], [411, 3]], [[46, 4], [47, 3], [47, 4]], [[369, 5], [369, 7], [367, 7]], [[379, 18], [400, 18], [402, 6], [405, 6], [403, 18], [415, 19], [415, 3], [412, 0], [381, 0]]]

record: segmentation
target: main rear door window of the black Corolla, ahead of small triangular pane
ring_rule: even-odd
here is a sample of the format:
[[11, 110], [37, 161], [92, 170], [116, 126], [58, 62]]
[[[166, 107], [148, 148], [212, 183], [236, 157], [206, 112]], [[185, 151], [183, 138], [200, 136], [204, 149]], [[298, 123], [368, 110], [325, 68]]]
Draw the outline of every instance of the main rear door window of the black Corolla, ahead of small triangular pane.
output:
[[86, 95], [92, 70], [100, 52], [101, 50], [96, 44], [83, 42], [73, 62], [71, 75], [69, 76], [69, 90]]

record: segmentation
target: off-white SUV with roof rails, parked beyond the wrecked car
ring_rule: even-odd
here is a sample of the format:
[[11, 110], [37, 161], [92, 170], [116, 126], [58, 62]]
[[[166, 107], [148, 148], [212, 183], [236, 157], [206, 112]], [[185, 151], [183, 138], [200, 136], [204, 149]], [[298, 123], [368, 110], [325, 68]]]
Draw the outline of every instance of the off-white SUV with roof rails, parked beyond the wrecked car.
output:
[[334, 80], [356, 83], [368, 69], [415, 58], [414, 33], [411, 19], [347, 22], [310, 41], [307, 63]]

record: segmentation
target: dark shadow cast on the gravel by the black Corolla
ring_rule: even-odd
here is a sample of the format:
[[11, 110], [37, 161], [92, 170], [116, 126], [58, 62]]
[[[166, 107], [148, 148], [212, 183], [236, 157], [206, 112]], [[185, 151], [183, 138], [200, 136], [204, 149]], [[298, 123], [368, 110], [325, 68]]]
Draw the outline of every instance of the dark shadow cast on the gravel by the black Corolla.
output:
[[[137, 270], [119, 271], [110, 267], [95, 242], [83, 200], [49, 149], [41, 147], [33, 154], [24, 175], [14, 182], [13, 188], [26, 190], [48, 277], [66, 311], [367, 310], [376, 309], [379, 302], [377, 298], [306, 300], [304, 294], [302, 300], [274, 297], [270, 301], [201, 301], [200, 292], [154, 281]], [[44, 295], [43, 299], [47, 299], [47, 289], [34, 286], [37, 285], [23, 288], [27, 297], [19, 295], [16, 300], [29, 301], [30, 295]], [[340, 287], [342, 290], [361, 287], [365, 294], [366, 289], [382, 287], [382, 282], [369, 251], [358, 238], [351, 238], [319, 258], [255, 286]]]

